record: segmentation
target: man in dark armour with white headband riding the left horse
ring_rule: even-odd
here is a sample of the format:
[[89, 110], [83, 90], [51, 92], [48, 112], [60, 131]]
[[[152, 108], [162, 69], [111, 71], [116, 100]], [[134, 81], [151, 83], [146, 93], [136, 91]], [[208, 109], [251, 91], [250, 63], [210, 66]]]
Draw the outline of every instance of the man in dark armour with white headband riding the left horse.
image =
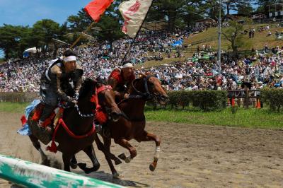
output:
[[45, 119], [50, 117], [59, 101], [76, 105], [79, 97], [83, 69], [76, 64], [76, 53], [67, 49], [62, 58], [50, 61], [40, 78], [40, 101], [44, 105], [38, 126], [45, 130]]

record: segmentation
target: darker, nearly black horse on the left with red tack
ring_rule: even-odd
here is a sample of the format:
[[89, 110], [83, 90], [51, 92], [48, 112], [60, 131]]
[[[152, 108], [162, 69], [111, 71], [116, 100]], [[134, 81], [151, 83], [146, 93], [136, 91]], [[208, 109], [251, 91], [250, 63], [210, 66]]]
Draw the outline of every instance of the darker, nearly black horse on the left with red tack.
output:
[[[88, 155], [89, 158], [91, 158], [91, 161], [93, 163], [93, 168], [86, 168], [86, 166], [81, 165], [82, 169], [86, 173], [96, 171], [100, 167], [92, 145], [93, 141], [99, 141], [99, 139], [95, 131], [92, 131], [93, 120], [95, 118], [93, 112], [94, 110], [96, 110], [96, 104], [93, 103], [93, 100], [91, 99], [93, 99], [93, 95], [96, 94], [96, 88], [100, 88], [101, 86], [102, 85], [100, 83], [97, 83], [97, 81], [87, 79], [83, 82], [83, 86], [81, 87], [78, 105], [76, 105], [75, 107], [69, 107], [64, 110], [62, 116], [64, 124], [67, 125], [69, 131], [73, 133], [75, 137], [81, 137], [75, 138], [74, 135], [71, 136], [71, 134], [68, 134], [66, 129], [64, 129], [62, 126], [58, 128], [55, 141], [59, 143], [57, 150], [62, 152], [64, 170], [70, 171], [70, 165], [72, 166], [72, 168], [76, 168], [76, 160], [73, 159], [74, 161], [71, 161], [71, 157], [82, 150]], [[115, 94], [110, 88], [100, 90], [100, 93], [98, 93], [99, 104], [103, 107], [103, 110], [105, 112], [108, 112], [109, 119], [117, 121], [119, 115], [121, 114], [121, 111], [117, 107], [114, 98]], [[28, 117], [28, 124], [37, 124], [37, 122], [33, 120], [34, 113], [35, 110], [30, 113]], [[40, 142], [35, 136], [33, 129], [31, 129], [31, 131], [33, 134], [30, 135], [30, 140], [33, 142], [33, 146], [35, 146], [37, 151], [40, 152], [42, 161], [47, 160], [47, 156], [42, 151]], [[99, 143], [98, 148], [103, 151], [103, 146], [99, 145]], [[106, 155], [105, 157], [107, 158]]]

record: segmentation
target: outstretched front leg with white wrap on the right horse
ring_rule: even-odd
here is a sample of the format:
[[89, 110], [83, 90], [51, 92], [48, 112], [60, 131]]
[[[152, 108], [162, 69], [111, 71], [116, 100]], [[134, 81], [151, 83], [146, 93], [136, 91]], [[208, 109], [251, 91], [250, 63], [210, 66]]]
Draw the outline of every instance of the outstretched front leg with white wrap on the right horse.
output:
[[152, 162], [149, 165], [149, 169], [151, 171], [154, 171], [156, 169], [156, 165], [157, 165], [157, 161], [159, 159], [159, 153], [160, 153], [160, 143], [161, 140], [158, 136], [156, 136], [155, 134], [150, 134], [147, 131], [144, 131], [143, 134], [141, 134], [141, 136], [139, 136], [139, 138], [136, 138], [137, 141], [141, 142], [141, 141], [155, 141], [155, 145], [156, 145], [156, 150], [155, 150], [155, 154], [154, 154], [154, 162]]

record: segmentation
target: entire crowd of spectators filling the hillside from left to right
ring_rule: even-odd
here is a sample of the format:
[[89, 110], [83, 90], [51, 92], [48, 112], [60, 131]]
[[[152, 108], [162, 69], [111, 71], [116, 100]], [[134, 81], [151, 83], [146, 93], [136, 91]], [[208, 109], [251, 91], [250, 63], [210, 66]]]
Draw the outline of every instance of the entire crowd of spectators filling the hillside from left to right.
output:
[[[189, 36], [190, 32], [181, 30], [176, 30], [175, 33], [144, 32], [137, 37], [126, 59], [133, 64], [142, 64], [146, 60], [162, 59], [164, 55], [170, 57], [172, 44]], [[74, 50], [78, 54], [79, 64], [83, 66], [84, 76], [108, 78], [113, 69], [120, 67], [131, 42], [132, 40], [122, 39], [112, 44], [105, 42], [100, 45], [76, 47]], [[283, 47], [270, 49], [265, 45], [261, 52], [255, 51], [253, 56], [242, 59], [224, 54], [220, 76], [215, 52], [212, 52], [209, 44], [198, 47], [193, 59], [164, 64], [147, 71], [156, 75], [167, 90], [236, 90], [242, 88], [243, 83], [250, 83], [250, 88], [282, 87], [283, 78], [279, 73], [283, 73]], [[64, 49], [59, 49], [58, 54], [63, 51]], [[181, 52], [179, 55], [183, 56]], [[38, 92], [40, 76], [50, 60], [50, 57], [28, 57], [0, 65], [0, 92]], [[139, 74], [139, 71], [136, 73]]]

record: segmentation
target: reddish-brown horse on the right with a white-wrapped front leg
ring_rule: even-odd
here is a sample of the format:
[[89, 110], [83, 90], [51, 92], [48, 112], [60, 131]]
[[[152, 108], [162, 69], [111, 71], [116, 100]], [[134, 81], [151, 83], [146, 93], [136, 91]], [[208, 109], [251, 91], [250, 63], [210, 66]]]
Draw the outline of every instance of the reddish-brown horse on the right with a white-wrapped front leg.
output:
[[[146, 101], [155, 100], [160, 104], [168, 102], [168, 95], [161, 86], [161, 82], [154, 76], [143, 75], [132, 82], [130, 88], [130, 95], [127, 100], [122, 100], [118, 107], [122, 112], [125, 112], [127, 117], [121, 117], [117, 122], [109, 122], [106, 126], [110, 129], [111, 138], [115, 143], [127, 148], [130, 155], [125, 156], [124, 153], [119, 155], [119, 158], [129, 163], [136, 155], [137, 150], [129, 143], [129, 140], [135, 139], [141, 141], [155, 141], [156, 152], [154, 154], [154, 161], [149, 165], [151, 171], [154, 171], [157, 165], [160, 152], [161, 140], [158, 136], [150, 134], [144, 130], [146, 126], [146, 119], [144, 117], [144, 107]], [[103, 136], [103, 142], [108, 153], [110, 153], [111, 139]], [[112, 160], [117, 162], [114, 155], [111, 156]], [[115, 168], [111, 167], [112, 174], [117, 174]]]

